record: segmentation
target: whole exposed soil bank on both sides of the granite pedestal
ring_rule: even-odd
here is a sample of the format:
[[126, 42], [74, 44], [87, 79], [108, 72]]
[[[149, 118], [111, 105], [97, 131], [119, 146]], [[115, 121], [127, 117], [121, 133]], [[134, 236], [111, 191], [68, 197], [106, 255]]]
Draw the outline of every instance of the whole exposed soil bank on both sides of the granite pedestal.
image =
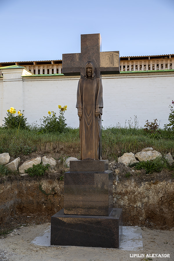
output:
[[[0, 224], [21, 216], [50, 216], [63, 208], [64, 181], [21, 177], [0, 184]], [[123, 209], [124, 225], [174, 227], [174, 180], [114, 175], [113, 206]]]

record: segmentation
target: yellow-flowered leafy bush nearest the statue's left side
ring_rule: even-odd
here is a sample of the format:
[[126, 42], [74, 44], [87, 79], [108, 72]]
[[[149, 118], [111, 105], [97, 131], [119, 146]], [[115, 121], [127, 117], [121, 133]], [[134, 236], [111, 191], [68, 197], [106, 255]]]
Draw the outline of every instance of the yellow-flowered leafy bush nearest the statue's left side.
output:
[[67, 124], [65, 123], [66, 119], [64, 117], [64, 113], [67, 110], [67, 105], [65, 106], [58, 106], [59, 108], [59, 117], [56, 116], [54, 111], [48, 111], [48, 116], [44, 116], [44, 119], [41, 121], [43, 122], [42, 129], [48, 132], [65, 132]]

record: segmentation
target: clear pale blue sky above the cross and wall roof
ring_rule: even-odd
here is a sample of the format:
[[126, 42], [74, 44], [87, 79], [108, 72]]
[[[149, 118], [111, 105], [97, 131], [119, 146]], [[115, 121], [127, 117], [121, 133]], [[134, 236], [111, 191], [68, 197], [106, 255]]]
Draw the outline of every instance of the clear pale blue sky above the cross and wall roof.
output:
[[59, 60], [100, 33], [120, 56], [174, 53], [174, 0], [0, 0], [0, 62]]

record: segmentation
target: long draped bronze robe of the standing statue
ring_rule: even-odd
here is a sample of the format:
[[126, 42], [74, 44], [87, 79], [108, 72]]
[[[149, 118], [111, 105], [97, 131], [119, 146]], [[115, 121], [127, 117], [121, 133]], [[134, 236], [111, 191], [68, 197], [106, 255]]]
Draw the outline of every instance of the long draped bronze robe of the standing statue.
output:
[[[103, 108], [103, 87], [100, 78], [79, 79], [76, 108], [82, 108], [82, 117], [79, 117], [80, 159], [99, 160]], [[95, 108], [100, 110], [98, 117], [95, 116]]]

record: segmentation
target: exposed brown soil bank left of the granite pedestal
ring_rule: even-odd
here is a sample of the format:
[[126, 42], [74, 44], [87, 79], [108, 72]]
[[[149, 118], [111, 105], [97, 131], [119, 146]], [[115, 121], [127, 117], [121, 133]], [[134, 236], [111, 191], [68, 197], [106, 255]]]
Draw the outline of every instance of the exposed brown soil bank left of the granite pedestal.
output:
[[0, 184], [0, 224], [17, 216], [53, 215], [63, 208], [64, 181], [48, 178], [21, 180]]

